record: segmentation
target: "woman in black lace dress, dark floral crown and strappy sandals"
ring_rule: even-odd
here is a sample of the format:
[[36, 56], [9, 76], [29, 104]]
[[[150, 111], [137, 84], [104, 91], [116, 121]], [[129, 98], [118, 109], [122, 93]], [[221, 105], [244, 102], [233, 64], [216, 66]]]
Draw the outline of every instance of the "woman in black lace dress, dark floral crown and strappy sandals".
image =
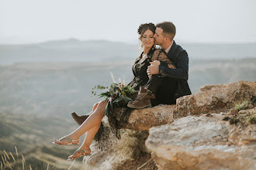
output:
[[[134, 90], [139, 90], [140, 86], [147, 84], [149, 77], [147, 76], [147, 66], [150, 66], [152, 59], [158, 59], [161, 54], [163, 58], [163, 53], [159, 53], [159, 49], [154, 47], [154, 32], [156, 27], [153, 23], [146, 23], [140, 25], [138, 33], [140, 35], [139, 39], [142, 46], [144, 47], [143, 53], [137, 57], [135, 63], [133, 64], [133, 80], [129, 83], [130, 87], [133, 87]], [[164, 59], [168, 60], [168, 57], [165, 55]], [[167, 63], [171, 61], [167, 61]], [[85, 155], [91, 155], [91, 150], [89, 146], [92, 143], [92, 139], [95, 137], [97, 131], [99, 131], [102, 118], [104, 117], [105, 108], [107, 101], [100, 101], [95, 104], [92, 109], [92, 114], [81, 124], [81, 126], [75, 131], [71, 132], [67, 136], [55, 140], [53, 143], [55, 145], [78, 145], [79, 137], [87, 132], [85, 140], [80, 148], [74, 152], [73, 155], [68, 157], [68, 160], [79, 158]]]

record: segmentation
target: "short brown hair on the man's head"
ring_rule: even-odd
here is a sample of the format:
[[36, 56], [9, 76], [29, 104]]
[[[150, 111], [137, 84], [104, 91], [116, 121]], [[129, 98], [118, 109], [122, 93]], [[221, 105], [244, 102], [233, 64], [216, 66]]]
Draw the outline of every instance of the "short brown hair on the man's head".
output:
[[169, 39], [174, 39], [176, 34], [175, 25], [172, 22], [161, 22], [157, 24], [157, 28], [163, 29], [163, 36], [168, 37]]

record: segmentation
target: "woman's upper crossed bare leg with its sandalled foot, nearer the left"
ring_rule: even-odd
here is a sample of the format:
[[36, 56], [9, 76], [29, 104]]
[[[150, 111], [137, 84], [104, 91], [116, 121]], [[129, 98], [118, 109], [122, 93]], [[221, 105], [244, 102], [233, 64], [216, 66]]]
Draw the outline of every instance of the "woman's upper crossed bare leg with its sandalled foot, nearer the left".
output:
[[[79, 128], [77, 128], [75, 131], [73, 131], [71, 134], [68, 134], [68, 137], [71, 139], [78, 139], [82, 134], [85, 134], [86, 131], [89, 131], [90, 129], [94, 128], [95, 126], [99, 126], [102, 122], [102, 118], [105, 114], [105, 108], [107, 101], [100, 101], [96, 109], [92, 112], [92, 114], [84, 121], [83, 124]], [[99, 130], [99, 129], [98, 129]], [[96, 131], [97, 132], [97, 131]], [[66, 139], [63, 139], [61, 141], [54, 141], [57, 144], [67, 144], [68, 141]]]

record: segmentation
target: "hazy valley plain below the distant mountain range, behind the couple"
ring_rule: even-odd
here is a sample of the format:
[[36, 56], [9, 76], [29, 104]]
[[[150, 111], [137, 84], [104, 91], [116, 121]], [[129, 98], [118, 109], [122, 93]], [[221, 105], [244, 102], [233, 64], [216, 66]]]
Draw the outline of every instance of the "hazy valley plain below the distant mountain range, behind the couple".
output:
[[[0, 111], [69, 117], [72, 111], [88, 114], [102, 98], [92, 87], [129, 83], [133, 60], [109, 63], [16, 63], [0, 66]], [[192, 93], [206, 84], [256, 80], [256, 59], [191, 59]], [[100, 93], [101, 91], [98, 91]]]

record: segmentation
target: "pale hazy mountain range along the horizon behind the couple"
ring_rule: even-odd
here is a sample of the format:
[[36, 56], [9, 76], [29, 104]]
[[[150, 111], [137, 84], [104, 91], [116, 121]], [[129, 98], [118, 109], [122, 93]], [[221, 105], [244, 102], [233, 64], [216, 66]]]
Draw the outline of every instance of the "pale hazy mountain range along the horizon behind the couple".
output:
[[[207, 44], [177, 42], [190, 59], [238, 59], [256, 57], [256, 43]], [[35, 44], [0, 44], [0, 65], [23, 62], [109, 62], [133, 60], [136, 42], [80, 41], [64, 39]]]

